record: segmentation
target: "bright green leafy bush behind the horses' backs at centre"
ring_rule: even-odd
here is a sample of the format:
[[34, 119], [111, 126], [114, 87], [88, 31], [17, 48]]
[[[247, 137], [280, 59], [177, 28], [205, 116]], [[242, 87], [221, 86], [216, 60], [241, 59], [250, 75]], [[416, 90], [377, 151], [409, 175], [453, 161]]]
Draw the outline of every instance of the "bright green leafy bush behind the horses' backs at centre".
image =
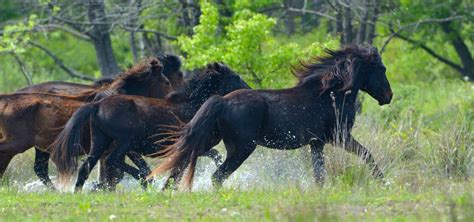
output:
[[280, 42], [271, 32], [275, 19], [248, 9], [236, 11], [232, 22], [219, 32], [217, 7], [202, 1], [201, 10], [200, 24], [194, 28], [194, 35], [178, 39], [180, 49], [187, 55], [185, 67], [196, 69], [211, 61], [223, 61], [250, 80], [254, 87], [288, 86], [291, 64], [337, 45], [334, 38], [323, 44], [313, 42], [305, 48]]

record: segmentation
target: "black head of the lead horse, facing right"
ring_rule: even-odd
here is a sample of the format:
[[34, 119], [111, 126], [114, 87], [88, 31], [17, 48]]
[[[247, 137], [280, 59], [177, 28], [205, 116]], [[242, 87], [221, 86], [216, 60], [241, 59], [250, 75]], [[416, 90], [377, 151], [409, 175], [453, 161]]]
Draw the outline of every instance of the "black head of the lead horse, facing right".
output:
[[386, 68], [377, 48], [373, 46], [360, 47], [363, 52], [360, 57], [360, 89], [367, 92], [379, 102], [379, 105], [389, 104], [392, 100], [392, 89], [385, 75]]

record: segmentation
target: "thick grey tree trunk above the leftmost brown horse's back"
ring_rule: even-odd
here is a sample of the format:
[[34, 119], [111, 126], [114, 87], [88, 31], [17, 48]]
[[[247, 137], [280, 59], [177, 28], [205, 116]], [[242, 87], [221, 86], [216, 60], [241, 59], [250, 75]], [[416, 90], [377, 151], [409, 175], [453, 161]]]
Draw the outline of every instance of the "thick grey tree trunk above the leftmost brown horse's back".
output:
[[105, 5], [103, 0], [87, 0], [87, 15], [92, 23], [89, 34], [94, 43], [97, 62], [102, 76], [113, 76], [118, 74], [120, 69], [115, 60], [110, 40], [109, 24], [105, 15]]

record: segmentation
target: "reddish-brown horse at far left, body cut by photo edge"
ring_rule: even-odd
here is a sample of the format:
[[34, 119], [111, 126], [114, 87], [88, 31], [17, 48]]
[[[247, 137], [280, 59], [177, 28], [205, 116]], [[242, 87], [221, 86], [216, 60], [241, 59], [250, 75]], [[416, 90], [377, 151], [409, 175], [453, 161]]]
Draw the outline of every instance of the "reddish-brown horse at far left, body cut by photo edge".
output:
[[[16, 93], [0, 96], [0, 177], [18, 153], [35, 146], [42, 151], [35, 172], [48, 187], [50, 144], [74, 111], [92, 98], [110, 94], [136, 94], [164, 98], [171, 91], [159, 60], [145, 59], [115, 79], [107, 89], [85, 90], [74, 96]], [[87, 141], [88, 142], [88, 141]]]

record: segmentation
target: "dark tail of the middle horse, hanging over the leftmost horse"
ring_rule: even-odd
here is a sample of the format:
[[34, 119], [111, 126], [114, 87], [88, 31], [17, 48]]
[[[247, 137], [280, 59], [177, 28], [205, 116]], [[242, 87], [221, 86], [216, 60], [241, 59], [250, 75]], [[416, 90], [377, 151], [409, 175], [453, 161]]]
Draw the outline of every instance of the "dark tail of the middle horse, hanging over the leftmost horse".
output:
[[51, 144], [51, 159], [59, 173], [59, 184], [65, 186], [77, 170], [77, 156], [83, 151], [81, 146], [83, 128], [90, 117], [97, 112], [98, 105], [89, 103], [81, 106], [69, 119], [63, 131]]

